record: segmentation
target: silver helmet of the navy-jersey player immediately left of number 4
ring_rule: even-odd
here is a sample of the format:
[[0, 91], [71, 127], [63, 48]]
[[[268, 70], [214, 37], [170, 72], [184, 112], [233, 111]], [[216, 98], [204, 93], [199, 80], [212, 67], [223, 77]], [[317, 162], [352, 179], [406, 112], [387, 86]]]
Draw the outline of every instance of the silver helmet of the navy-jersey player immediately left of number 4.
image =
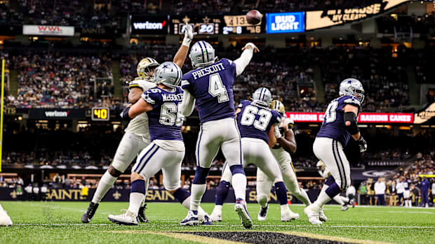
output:
[[167, 87], [175, 88], [180, 86], [182, 71], [174, 62], [164, 62], [154, 71], [154, 82]]

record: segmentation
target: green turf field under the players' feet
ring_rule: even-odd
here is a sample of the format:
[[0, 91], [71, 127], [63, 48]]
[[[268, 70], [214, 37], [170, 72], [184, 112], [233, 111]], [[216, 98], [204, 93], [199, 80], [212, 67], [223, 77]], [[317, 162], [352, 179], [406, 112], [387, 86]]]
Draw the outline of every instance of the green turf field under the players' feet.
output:
[[[148, 203], [146, 214], [150, 222], [140, 224], [138, 227], [119, 226], [107, 220], [107, 215], [121, 213], [122, 208], [128, 208], [128, 203], [102, 202], [90, 224], [81, 223], [81, 214], [88, 206], [86, 202], [4, 201], [1, 205], [8, 211], [14, 223], [13, 227], [0, 227], [2, 244], [115, 241], [116, 243], [193, 243], [194, 241], [219, 243], [222, 242], [222, 238], [241, 240], [229, 238], [228, 236], [234, 234], [230, 232], [221, 233], [221, 237], [212, 239], [207, 237], [213, 237], [212, 232], [201, 234], [199, 231], [245, 231], [232, 204], [224, 205], [224, 222], [203, 227], [181, 227], [179, 222], [185, 217], [187, 210], [179, 203]], [[209, 213], [213, 210], [211, 203], [203, 203], [201, 206]], [[431, 208], [356, 206], [342, 212], [339, 206], [326, 206], [325, 213], [329, 220], [321, 227], [309, 224], [307, 217], [302, 213], [302, 206], [293, 205], [290, 208], [300, 214], [300, 220], [287, 223], [279, 221], [279, 206], [271, 204], [268, 220], [259, 222], [256, 220], [257, 204], [249, 204], [248, 210], [254, 219], [254, 227], [249, 231], [257, 234], [257, 231], [291, 231], [285, 233], [288, 235], [288, 240], [291, 236], [307, 237], [296, 241], [298, 243], [307, 240], [313, 240], [312, 243], [322, 243], [321, 239], [329, 240], [329, 243], [337, 243], [337, 241], [352, 243], [358, 240], [384, 243], [435, 243], [435, 209]], [[195, 234], [180, 234], [178, 231], [194, 231]], [[266, 234], [269, 235], [269, 232]], [[240, 235], [246, 234], [234, 234], [234, 236]], [[266, 240], [274, 238], [267, 235], [254, 239], [251, 236], [243, 240], [260, 242], [260, 238]], [[280, 238], [287, 238], [286, 235]]]

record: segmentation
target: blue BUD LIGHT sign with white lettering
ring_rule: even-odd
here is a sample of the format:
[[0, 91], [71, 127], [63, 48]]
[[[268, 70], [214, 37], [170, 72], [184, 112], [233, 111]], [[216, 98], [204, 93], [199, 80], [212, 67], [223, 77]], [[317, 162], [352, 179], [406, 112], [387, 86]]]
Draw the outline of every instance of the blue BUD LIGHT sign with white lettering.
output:
[[266, 33], [291, 33], [304, 32], [305, 13], [267, 13], [266, 14]]

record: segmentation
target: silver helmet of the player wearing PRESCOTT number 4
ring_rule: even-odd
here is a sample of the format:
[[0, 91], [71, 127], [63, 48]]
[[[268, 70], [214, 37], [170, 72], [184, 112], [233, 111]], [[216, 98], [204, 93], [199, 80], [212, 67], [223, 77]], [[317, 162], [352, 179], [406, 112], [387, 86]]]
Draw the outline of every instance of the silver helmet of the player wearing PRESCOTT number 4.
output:
[[217, 59], [217, 57], [215, 57], [215, 49], [206, 41], [197, 41], [192, 45], [189, 58], [194, 68], [214, 64]]

